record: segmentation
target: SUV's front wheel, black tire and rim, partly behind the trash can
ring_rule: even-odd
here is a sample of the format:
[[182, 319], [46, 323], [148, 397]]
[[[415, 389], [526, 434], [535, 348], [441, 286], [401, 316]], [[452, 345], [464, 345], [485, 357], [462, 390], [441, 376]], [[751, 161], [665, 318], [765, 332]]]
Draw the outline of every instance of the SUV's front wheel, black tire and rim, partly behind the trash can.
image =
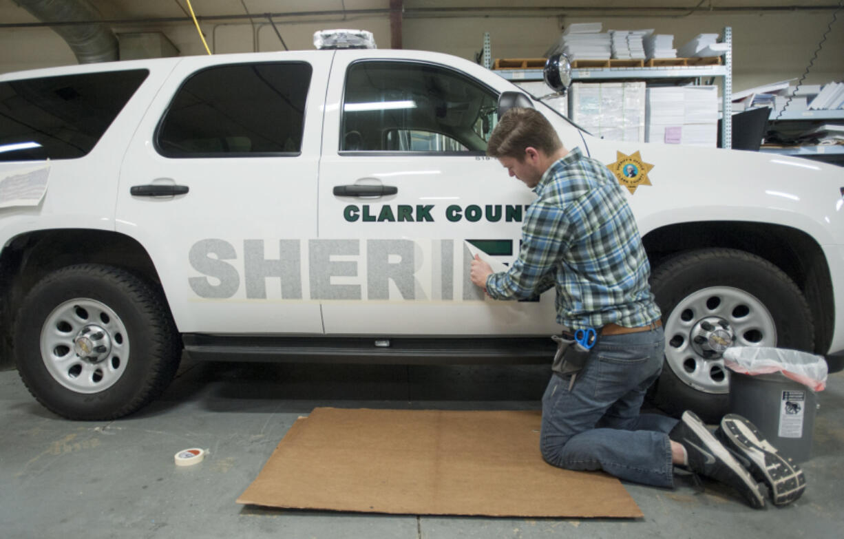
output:
[[[676, 417], [692, 410], [714, 423], [728, 411], [729, 375], [717, 349], [722, 329], [732, 333], [734, 346], [813, 349], [809, 304], [785, 272], [760, 256], [686, 251], [654, 269], [651, 288], [663, 311], [666, 359], [650, 400]], [[703, 326], [718, 319], [727, 326]], [[715, 333], [711, 341], [701, 337]]]

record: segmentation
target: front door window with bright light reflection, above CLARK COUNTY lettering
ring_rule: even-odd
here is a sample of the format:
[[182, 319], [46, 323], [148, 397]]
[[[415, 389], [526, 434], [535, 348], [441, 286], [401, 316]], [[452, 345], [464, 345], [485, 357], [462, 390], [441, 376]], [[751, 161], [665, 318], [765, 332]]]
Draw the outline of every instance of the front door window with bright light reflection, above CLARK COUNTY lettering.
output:
[[425, 63], [349, 67], [341, 151], [484, 152], [497, 96], [462, 73]]

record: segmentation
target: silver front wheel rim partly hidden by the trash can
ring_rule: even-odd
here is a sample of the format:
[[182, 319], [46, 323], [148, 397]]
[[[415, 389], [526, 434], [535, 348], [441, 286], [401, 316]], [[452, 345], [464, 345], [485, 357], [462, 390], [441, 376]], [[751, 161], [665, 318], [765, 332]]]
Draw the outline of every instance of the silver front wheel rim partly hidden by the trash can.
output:
[[684, 384], [706, 393], [729, 391], [725, 348], [776, 346], [771, 312], [739, 288], [702, 288], [690, 294], [668, 315], [664, 329], [668, 366]]

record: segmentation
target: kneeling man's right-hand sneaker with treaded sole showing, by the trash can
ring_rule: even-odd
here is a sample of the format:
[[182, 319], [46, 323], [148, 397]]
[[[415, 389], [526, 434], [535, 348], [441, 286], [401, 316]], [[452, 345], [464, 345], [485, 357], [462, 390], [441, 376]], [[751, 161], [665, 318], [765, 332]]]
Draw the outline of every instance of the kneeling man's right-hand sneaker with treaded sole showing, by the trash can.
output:
[[806, 477], [800, 466], [780, 455], [759, 429], [749, 420], [728, 413], [715, 435], [728, 450], [738, 455], [753, 477], [768, 485], [775, 505], [791, 504], [806, 490]]

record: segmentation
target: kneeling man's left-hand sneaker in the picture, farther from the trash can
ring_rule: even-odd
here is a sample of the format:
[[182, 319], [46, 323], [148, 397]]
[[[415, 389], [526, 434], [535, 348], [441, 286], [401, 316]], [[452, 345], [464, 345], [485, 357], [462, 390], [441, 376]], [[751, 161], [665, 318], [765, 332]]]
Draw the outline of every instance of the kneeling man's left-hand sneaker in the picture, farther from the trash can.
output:
[[762, 486], [754, 480], [744, 466], [706, 429], [694, 412], [686, 410], [677, 426], [668, 434], [689, 455], [689, 469], [702, 476], [711, 477], [738, 490], [750, 507], [765, 507]]

